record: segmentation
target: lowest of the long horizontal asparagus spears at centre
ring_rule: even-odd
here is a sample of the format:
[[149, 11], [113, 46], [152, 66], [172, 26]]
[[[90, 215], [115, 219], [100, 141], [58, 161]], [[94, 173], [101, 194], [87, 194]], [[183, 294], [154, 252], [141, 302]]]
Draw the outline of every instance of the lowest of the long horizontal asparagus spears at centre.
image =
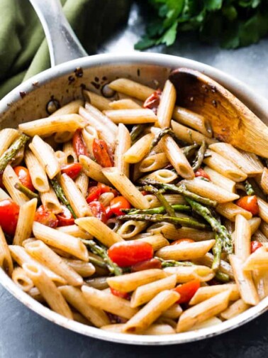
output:
[[207, 229], [207, 225], [197, 221], [193, 217], [168, 217], [164, 215], [146, 215], [146, 214], [135, 214], [135, 215], [121, 215], [118, 220], [137, 220], [137, 221], [148, 221], [148, 222], [170, 222], [175, 225], [182, 225], [184, 227], [193, 227], [194, 229]]

